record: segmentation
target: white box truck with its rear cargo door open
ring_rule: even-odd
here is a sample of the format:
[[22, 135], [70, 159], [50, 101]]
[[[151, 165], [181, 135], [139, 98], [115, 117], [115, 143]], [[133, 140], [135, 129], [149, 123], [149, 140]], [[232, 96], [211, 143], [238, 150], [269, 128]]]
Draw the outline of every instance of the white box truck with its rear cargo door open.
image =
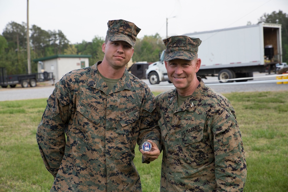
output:
[[[259, 23], [184, 35], [202, 40], [198, 50], [202, 62], [197, 72], [202, 78], [218, 76], [221, 83], [247, 81], [249, 78], [243, 78], [253, 79], [253, 72], [276, 71], [276, 63], [282, 62], [281, 24]], [[171, 83], [164, 64], [164, 52], [145, 73], [151, 84]]]

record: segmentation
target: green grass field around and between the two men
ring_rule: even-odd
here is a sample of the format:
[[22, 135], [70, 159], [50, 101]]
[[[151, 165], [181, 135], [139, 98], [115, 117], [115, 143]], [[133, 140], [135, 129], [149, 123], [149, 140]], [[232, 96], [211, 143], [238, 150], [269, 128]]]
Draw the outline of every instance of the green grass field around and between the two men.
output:
[[[245, 191], [288, 191], [288, 92], [224, 96], [231, 101], [242, 132]], [[44, 167], [35, 138], [45, 107], [46, 99], [0, 102], [0, 192], [49, 191], [53, 177]], [[159, 191], [162, 158], [141, 164], [141, 153], [135, 151], [143, 191]]]

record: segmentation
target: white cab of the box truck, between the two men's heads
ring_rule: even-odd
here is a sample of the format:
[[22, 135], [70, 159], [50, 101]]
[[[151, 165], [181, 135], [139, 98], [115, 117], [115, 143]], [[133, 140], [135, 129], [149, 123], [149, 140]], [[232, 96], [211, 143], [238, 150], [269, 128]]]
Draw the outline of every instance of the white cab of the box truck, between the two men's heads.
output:
[[159, 84], [160, 81], [171, 81], [168, 78], [167, 70], [164, 63], [164, 54], [165, 50], [163, 50], [160, 54], [159, 61], [151, 63], [146, 70], [146, 79], [149, 79], [149, 82], [154, 84]]

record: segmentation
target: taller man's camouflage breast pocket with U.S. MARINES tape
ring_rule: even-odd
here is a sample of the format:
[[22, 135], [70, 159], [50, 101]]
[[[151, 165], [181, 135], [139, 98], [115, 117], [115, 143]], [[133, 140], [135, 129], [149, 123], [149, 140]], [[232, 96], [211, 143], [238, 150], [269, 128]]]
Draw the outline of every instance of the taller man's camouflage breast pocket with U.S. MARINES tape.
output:
[[130, 107], [129, 109], [118, 113], [117, 116], [118, 122], [121, 124], [122, 128], [117, 129], [116, 132], [118, 134], [125, 134], [126, 136], [133, 136], [136, 132], [135, 128], [138, 127], [137, 120], [140, 117], [139, 107], [137, 105]]

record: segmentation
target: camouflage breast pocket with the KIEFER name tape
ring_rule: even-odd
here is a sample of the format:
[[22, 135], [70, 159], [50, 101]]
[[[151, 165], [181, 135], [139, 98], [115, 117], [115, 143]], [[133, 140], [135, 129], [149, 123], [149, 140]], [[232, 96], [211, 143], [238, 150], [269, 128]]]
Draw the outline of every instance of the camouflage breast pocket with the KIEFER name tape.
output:
[[[99, 113], [100, 112], [100, 113]], [[104, 112], [86, 100], [77, 107], [77, 118], [71, 128], [81, 140], [89, 143], [90, 138], [101, 132], [99, 123], [103, 118]]]

